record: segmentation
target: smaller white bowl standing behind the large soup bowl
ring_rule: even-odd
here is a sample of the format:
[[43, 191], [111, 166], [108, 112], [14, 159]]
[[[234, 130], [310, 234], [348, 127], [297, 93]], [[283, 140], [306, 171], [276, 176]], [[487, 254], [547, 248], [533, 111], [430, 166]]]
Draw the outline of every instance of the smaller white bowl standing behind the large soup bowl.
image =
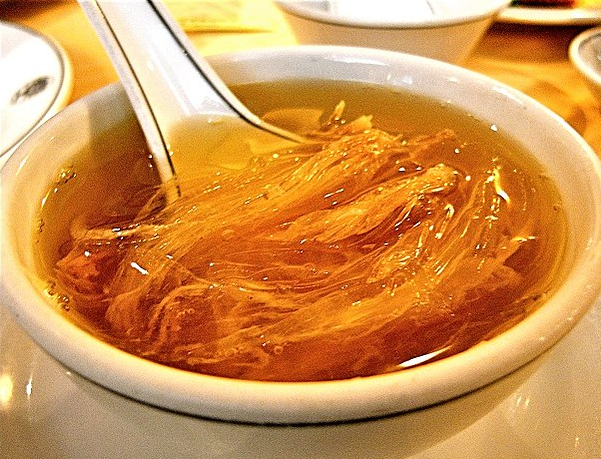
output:
[[508, 0], [280, 0], [300, 44], [388, 49], [463, 62]]

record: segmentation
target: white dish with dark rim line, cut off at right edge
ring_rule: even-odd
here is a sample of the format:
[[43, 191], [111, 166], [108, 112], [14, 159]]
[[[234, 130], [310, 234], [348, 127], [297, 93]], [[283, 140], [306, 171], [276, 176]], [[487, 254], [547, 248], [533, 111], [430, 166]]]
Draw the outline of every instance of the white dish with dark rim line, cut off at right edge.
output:
[[601, 27], [588, 29], [572, 40], [570, 60], [601, 100]]

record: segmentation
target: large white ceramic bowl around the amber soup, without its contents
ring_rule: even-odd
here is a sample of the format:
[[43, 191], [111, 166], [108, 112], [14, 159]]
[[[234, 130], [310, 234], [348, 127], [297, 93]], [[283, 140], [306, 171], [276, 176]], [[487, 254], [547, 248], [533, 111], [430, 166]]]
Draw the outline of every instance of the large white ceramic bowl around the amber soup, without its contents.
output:
[[[439, 441], [493, 408], [597, 297], [601, 166], [591, 148], [542, 105], [465, 69], [382, 50], [264, 49], [215, 57], [213, 63], [229, 83], [290, 77], [368, 81], [428, 94], [494, 123], [538, 158], [561, 192], [570, 222], [564, 281], [544, 306], [500, 336], [453, 357], [380, 376], [315, 383], [239, 381], [192, 374], [119, 351], [73, 325], [47, 301], [33, 271], [32, 251], [41, 198], [57, 171], [100, 133], [132, 116], [121, 87], [112, 85], [43, 125], [2, 170], [2, 301], [39, 345], [71, 370], [170, 412], [238, 422], [219, 427], [226, 436], [247, 432], [240, 423], [271, 424], [252, 431], [257, 450], [269, 451], [269, 444], [280, 441], [304, 445], [287, 457], [311, 457], [308, 451], [314, 457], [378, 457], [364, 448], [369, 444], [386, 457]], [[348, 443], [349, 435], [360, 440]], [[331, 454], [320, 454], [327, 445]]]

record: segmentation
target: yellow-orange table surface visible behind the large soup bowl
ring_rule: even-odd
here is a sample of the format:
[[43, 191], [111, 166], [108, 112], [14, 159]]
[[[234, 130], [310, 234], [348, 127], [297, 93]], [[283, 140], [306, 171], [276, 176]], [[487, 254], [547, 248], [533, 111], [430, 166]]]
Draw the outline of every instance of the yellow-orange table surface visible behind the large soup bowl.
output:
[[[203, 55], [295, 44], [281, 13], [268, 0], [253, 2], [262, 32], [190, 32]], [[73, 65], [74, 101], [117, 80], [100, 41], [75, 0], [3, 1], [0, 19], [14, 21], [56, 39]], [[240, 2], [239, 2], [240, 3]], [[169, 6], [169, 4], [168, 4]], [[532, 96], [563, 117], [601, 155], [601, 107], [568, 59], [572, 26], [495, 24], [465, 67], [493, 77]]]

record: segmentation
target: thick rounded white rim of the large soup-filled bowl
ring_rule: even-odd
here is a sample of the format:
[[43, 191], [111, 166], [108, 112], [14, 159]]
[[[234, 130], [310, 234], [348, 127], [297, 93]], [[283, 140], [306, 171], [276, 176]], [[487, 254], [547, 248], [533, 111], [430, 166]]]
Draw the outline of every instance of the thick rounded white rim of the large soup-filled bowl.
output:
[[[540, 103], [524, 94], [486, 76], [458, 66], [419, 56], [384, 50], [337, 46], [296, 46], [264, 48], [215, 56], [219, 60], [235, 61], [268, 58], [281, 53], [291, 57], [313, 53], [320, 56], [369, 57], [370, 59], [403, 59], [404, 63], [418, 64], [430, 69], [453, 72], [466, 79], [478, 80], [501, 87], [510, 98], [520, 101], [544, 116], [565, 132], [572, 145], [582, 153], [582, 159], [595, 173], [601, 204], [601, 163], [592, 148], [561, 119]], [[26, 159], [26, 146], [43, 139], [52, 132], [55, 123], [74, 117], [86, 104], [96, 104], [122, 90], [118, 84], [96, 91], [64, 110], [61, 116], [36, 130], [2, 169], [2, 194], [9, 189]], [[2, 199], [4, 208], [8, 199]], [[601, 206], [600, 206], [601, 207]], [[0, 235], [9, 230], [8, 222], [0, 220]], [[601, 267], [601, 212], [596, 214], [596, 245], [587, 252], [590, 264]], [[2, 244], [4, 266], [19, 264], [13, 247]], [[590, 270], [580, 267], [570, 275], [570, 282], [580, 289], [581, 296], [573, 300], [566, 288], [560, 288], [544, 308], [534, 312], [520, 324], [490, 341], [467, 351], [422, 367], [384, 375], [340, 381], [279, 383], [239, 381], [194, 374], [152, 363], [120, 351], [84, 332], [63, 315], [45, 307], [40, 312], [30, 305], [44, 302], [44, 295], [30, 279], [17, 270], [2, 276], [2, 302], [12, 311], [17, 321], [33, 339], [66, 366], [113, 391], [128, 397], [175, 412], [206, 418], [236, 422], [266, 424], [319, 424], [381, 416], [411, 411], [434, 405], [466, 393], [464, 374], [470, 369], [472, 377], [468, 390], [475, 390], [517, 370], [555, 344], [586, 312], [601, 289], [601, 279]], [[28, 305], [15, 306], [17, 302]], [[563, 304], [563, 306], [561, 306]], [[566, 310], [565, 305], [570, 305]], [[553, 319], [562, 310], [561, 320]], [[552, 325], [552, 326], [551, 326]], [[529, 329], [529, 330], [527, 330]], [[77, 343], [77, 346], [73, 346]], [[518, 345], [516, 346], [516, 343]], [[528, 352], [522, 352], [528, 348]], [[499, 353], [494, 348], [501, 349]], [[92, 356], [92, 357], [90, 357]], [[502, 356], [502, 358], [499, 358]], [[492, 361], [491, 361], [492, 358]], [[485, 368], [479, 365], [488, 360]], [[416, 387], [418, 389], [416, 389]], [[175, 390], [174, 388], [177, 388]], [[352, 403], [348, 403], [353, 400]]]

